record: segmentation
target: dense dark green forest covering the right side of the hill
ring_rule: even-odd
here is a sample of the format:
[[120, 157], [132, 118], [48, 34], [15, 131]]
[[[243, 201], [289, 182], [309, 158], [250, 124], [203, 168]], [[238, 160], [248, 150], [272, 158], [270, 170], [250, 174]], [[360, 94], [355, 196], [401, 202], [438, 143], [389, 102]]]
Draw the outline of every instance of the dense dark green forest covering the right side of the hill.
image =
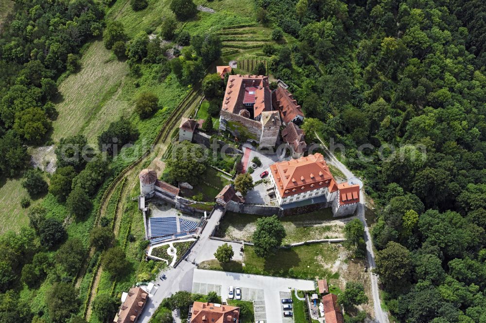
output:
[[[258, 10], [298, 40], [264, 50], [313, 118], [303, 128], [343, 144], [365, 179], [392, 316], [486, 322], [484, 1], [260, 0]], [[383, 144], [407, 146], [382, 160]]]

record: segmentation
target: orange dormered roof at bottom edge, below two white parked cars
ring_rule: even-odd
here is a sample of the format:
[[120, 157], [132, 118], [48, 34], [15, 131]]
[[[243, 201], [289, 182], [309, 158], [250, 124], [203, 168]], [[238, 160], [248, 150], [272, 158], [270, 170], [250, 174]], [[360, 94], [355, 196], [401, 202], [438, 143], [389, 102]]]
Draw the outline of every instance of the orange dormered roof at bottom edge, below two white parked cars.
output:
[[240, 307], [203, 302], [192, 304], [191, 323], [235, 323], [239, 317]]

